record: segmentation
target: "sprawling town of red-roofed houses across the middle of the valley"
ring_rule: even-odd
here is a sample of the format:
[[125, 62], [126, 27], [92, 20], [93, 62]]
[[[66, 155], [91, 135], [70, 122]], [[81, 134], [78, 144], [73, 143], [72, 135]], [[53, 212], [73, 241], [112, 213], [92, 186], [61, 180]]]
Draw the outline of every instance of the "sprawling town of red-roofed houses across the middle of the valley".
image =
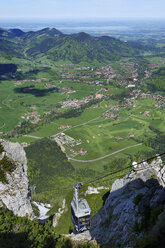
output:
[[[150, 64], [150, 68], [157, 67], [156, 64]], [[81, 105], [84, 105], [86, 103], [89, 103], [93, 99], [104, 99], [105, 97], [111, 97], [113, 94], [109, 93], [109, 89], [107, 85], [109, 84], [109, 80], [114, 80], [116, 85], [119, 85], [119, 87], [126, 87], [129, 89], [130, 96], [125, 99], [125, 103], [123, 107], [136, 107], [137, 99], [153, 99], [158, 102], [156, 106], [164, 106], [165, 100], [164, 97], [159, 94], [151, 94], [150, 92], [146, 93], [143, 92], [140, 86], [139, 82], [139, 75], [138, 75], [138, 69], [135, 68], [135, 63], [133, 62], [121, 62], [119, 68], [113, 69], [113, 66], [111, 65], [105, 65], [102, 67], [85, 67], [85, 66], [79, 66], [75, 67], [74, 65], [70, 65], [70, 69], [74, 72], [70, 72], [69, 67], [61, 66], [61, 76], [60, 80], [55, 81], [53, 83], [47, 82], [44, 84], [45, 89], [57, 89], [58, 92], [61, 92], [60, 94], [66, 95], [66, 99], [62, 101], [61, 109], [64, 108], [79, 108]], [[151, 73], [148, 70], [145, 70], [145, 79], [149, 78]], [[86, 80], [87, 78], [90, 78], [90, 80]], [[90, 94], [89, 96], [85, 96], [82, 99], [70, 99], [70, 94], [76, 93], [77, 91], [74, 89], [74, 86], [68, 87], [64, 86], [63, 80], [72, 80], [73, 82], [80, 82], [84, 84], [89, 85], [96, 85], [97, 89], [95, 89], [95, 94]], [[21, 86], [24, 83], [28, 82], [34, 82], [34, 83], [44, 83], [48, 81], [48, 78], [38, 78], [38, 79], [24, 79], [22, 81], [16, 81], [16, 86]], [[60, 84], [60, 86], [59, 86]], [[57, 86], [58, 85], [58, 86]], [[96, 105], [94, 107], [98, 107], [99, 105]], [[114, 109], [113, 109], [114, 108]], [[118, 118], [118, 114], [114, 113], [116, 111], [117, 106], [114, 106], [112, 109], [108, 110], [103, 117], [105, 119], [112, 118], [116, 119]], [[121, 108], [121, 107], [120, 107]], [[148, 110], [144, 111], [144, 115], [150, 116]], [[37, 124], [41, 118], [39, 114], [36, 112], [32, 113], [25, 113], [21, 116], [22, 119], [30, 120], [31, 123]], [[61, 128], [62, 129], [62, 128]], [[64, 128], [65, 129], [65, 128]]]

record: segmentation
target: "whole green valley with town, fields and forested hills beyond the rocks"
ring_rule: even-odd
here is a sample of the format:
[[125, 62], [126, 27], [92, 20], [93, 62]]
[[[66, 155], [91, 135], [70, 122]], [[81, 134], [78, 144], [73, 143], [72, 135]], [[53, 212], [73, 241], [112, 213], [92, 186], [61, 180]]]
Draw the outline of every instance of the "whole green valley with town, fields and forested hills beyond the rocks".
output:
[[[63, 229], [73, 184], [85, 183], [82, 195], [111, 188], [133, 161], [164, 151], [161, 49], [49, 28], [0, 30], [0, 136], [25, 147], [33, 200], [54, 214], [66, 198], [59, 233], [73, 228], [68, 220]], [[87, 196], [92, 215], [107, 191]]]

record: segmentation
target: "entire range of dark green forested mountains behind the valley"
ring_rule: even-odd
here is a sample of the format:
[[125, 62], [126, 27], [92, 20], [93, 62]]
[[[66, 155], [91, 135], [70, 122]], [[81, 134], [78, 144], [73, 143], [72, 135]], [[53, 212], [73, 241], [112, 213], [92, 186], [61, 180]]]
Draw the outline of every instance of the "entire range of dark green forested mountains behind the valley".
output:
[[134, 56], [137, 51], [127, 42], [87, 33], [66, 35], [55, 28], [23, 32], [0, 29], [0, 55], [5, 57], [47, 58], [53, 61], [100, 62]]

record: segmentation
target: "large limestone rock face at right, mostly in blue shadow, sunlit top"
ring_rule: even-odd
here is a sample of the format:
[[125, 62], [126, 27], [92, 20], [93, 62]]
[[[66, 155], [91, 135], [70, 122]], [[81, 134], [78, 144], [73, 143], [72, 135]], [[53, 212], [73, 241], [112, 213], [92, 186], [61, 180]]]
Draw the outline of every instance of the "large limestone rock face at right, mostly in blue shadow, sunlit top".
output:
[[[123, 179], [117, 179], [105, 205], [91, 221], [91, 236], [108, 247], [133, 247], [146, 207], [165, 207], [165, 167], [160, 157], [143, 163]], [[140, 196], [135, 203], [135, 197]]]

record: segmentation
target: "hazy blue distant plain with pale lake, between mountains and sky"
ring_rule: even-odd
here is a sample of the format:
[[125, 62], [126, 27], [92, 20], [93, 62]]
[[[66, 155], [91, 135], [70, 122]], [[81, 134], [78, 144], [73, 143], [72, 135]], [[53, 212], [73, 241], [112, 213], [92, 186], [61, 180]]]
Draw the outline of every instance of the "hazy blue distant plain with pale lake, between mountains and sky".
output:
[[[56, 21], [7, 21], [0, 20], [0, 28], [19, 28], [25, 32], [43, 28], [56, 28], [65, 34], [86, 32], [93, 36], [110, 35], [123, 38], [125, 35], [165, 31], [165, 20], [56, 20]], [[142, 32], [141, 32], [142, 31]]]

